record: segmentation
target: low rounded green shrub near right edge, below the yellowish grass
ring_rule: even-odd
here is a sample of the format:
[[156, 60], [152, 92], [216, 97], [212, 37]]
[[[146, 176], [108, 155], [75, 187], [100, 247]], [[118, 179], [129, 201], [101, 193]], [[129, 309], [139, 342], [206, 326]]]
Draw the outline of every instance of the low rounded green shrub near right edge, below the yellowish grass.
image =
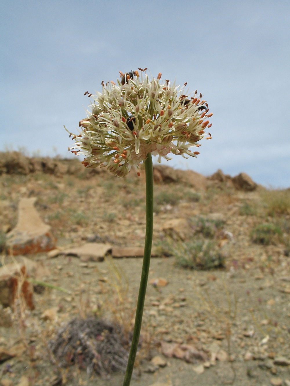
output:
[[273, 223], [258, 224], [250, 234], [252, 242], [263, 245], [276, 244], [281, 241], [282, 235], [281, 227]]

